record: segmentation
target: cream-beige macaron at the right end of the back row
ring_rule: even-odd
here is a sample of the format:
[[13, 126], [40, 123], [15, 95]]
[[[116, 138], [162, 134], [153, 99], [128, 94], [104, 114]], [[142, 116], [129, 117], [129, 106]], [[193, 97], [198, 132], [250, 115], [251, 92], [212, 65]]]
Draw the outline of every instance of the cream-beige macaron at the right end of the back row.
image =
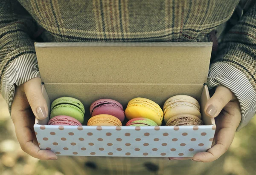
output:
[[167, 122], [170, 118], [178, 114], [192, 114], [201, 117], [200, 104], [195, 98], [188, 95], [175, 95], [163, 105], [164, 121]]

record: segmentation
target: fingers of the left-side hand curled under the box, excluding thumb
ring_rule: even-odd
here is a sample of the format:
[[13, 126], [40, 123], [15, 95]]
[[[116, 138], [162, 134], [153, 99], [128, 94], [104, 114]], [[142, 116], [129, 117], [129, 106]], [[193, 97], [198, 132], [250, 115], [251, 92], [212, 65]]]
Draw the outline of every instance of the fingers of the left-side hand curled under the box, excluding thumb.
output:
[[34, 158], [41, 160], [57, 160], [55, 153], [49, 150], [42, 150], [33, 142], [33, 120], [31, 120], [33, 114], [32, 111], [19, 109], [16, 103], [20, 101], [21, 100], [17, 99], [17, 96], [15, 96], [12, 104], [12, 120], [21, 149]]

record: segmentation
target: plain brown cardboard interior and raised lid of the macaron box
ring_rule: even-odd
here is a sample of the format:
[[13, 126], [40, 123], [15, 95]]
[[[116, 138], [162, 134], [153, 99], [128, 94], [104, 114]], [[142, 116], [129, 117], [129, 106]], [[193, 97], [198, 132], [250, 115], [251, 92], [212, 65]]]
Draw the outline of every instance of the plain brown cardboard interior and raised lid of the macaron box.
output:
[[203, 110], [209, 99], [204, 83], [212, 43], [35, 43], [35, 49], [48, 105], [62, 96], [81, 100], [83, 125], [90, 104], [99, 98], [125, 107], [132, 98], [143, 97], [163, 107], [180, 94], [200, 101], [204, 124], [215, 124]]

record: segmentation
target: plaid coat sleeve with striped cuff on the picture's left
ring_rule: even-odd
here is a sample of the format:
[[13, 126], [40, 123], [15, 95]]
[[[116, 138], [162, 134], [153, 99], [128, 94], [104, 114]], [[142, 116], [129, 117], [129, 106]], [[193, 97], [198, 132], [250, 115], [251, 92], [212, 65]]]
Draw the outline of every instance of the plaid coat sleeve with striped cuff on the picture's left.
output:
[[15, 85], [39, 77], [32, 34], [37, 25], [17, 0], [0, 0], [0, 93], [11, 113]]

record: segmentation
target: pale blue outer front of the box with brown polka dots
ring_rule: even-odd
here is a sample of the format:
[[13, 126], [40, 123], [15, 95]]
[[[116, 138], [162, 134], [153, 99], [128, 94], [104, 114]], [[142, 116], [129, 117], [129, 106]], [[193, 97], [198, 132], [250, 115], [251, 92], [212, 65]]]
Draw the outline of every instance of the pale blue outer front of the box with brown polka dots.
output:
[[[204, 92], [202, 99], [207, 99]], [[206, 103], [207, 100], [201, 101]], [[209, 125], [50, 126], [36, 121], [34, 129], [40, 148], [52, 150], [57, 155], [192, 157], [212, 145], [216, 125], [203, 112], [202, 119]], [[47, 120], [41, 123], [47, 123]]]

